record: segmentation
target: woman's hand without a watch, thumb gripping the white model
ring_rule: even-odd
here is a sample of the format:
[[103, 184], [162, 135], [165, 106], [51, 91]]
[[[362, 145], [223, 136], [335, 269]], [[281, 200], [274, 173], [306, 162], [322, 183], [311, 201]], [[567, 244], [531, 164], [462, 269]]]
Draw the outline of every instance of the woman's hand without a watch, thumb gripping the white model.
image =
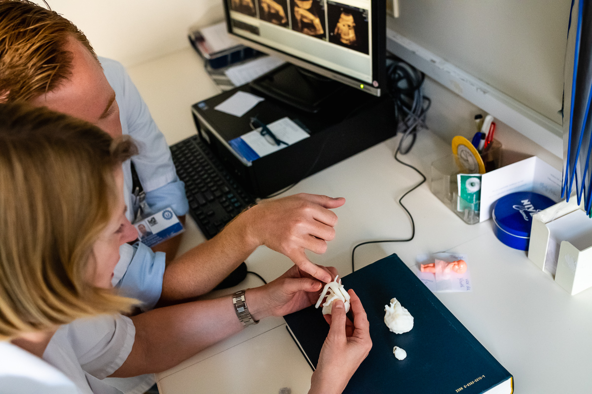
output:
[[[318, 357], [309, 394], [339, 394], [372, 349], [366, 311], [356, 293], [349, 289], [353, 323], [345, 316], [343, 302], [333, 302], [331, 328]], [[349, 324], [348, 324], [349, 322]]]

